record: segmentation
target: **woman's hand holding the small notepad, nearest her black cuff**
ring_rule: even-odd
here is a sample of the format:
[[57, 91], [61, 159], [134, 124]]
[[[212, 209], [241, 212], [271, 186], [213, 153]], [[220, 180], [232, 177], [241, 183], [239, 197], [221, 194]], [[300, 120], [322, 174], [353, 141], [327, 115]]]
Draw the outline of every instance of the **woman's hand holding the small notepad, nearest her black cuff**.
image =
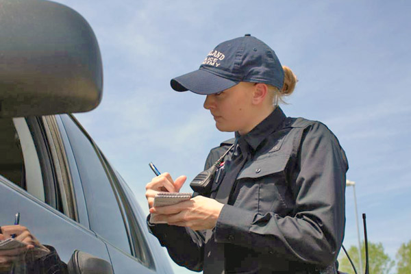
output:
[[171, 206], [151, 208], [155, 221], [166, 221], [169, 225], [190, 227], [193, 230], [212, 229], [224, 204], [203, 196], [182, 201]]

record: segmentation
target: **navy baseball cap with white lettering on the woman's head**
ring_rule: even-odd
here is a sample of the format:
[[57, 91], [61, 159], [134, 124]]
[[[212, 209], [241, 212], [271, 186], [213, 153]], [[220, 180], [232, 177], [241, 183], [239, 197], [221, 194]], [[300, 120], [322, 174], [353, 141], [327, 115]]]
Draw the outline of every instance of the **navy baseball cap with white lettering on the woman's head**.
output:
[[197, 71], [175, 77], [170, 84], [176, 91], [210, 95], [240, 82], [279, 89], [284, 83], [284, 71], [273, 49], [250, 34], [222, 42], [208, 53]]

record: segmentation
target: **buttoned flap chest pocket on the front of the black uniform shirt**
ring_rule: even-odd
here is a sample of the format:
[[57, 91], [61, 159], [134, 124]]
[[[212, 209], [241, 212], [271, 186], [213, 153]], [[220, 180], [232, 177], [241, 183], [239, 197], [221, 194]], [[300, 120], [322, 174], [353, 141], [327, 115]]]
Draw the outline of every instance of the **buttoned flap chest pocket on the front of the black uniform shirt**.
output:
[[[253, 200], [258, 203], [259, 213], [275, 212], [283, 216], [289, 211], [287, 200], [290, 193], [286, 183], [289, 158], [289, 155], [269, 153], [264, 159], [247, 164], [238, 174], [239, 194], [242, 188], [245, 191], [253, 189]], [[250, 199], [249, 195], [247, 196]]]

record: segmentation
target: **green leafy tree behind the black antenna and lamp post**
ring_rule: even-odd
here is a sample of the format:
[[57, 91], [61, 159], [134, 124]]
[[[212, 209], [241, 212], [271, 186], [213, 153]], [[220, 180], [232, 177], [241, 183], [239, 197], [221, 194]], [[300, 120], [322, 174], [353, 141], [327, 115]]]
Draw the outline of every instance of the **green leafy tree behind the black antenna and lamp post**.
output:
[[[353, 261], [354, 265], [356, 266], [358, 274], [360, 273], [360, 260], [358, 260], [358, 247], [355, 245], [351, 245], [347, 250], [349, 257]], [[361, 258], [362, 258], [362, 271], [365, 271], [365, 245], [362, 242], [361, 245]], [[347, 273], [354, 273], [353, 267], [349, 262], [347, 256], [343, 249], [340, 251], [340, 256], [338, 257], [338, 262], [340, 266], [338, 270], [347, 272]], [[388, 274], [390, 270], [393, 268], [395, 262], [391, 260], [390, 256], [384, 252], [384, 247], [382, 246], [381, 242], [373, 243], [369, 242], [369, 273], [373, 274]]]

